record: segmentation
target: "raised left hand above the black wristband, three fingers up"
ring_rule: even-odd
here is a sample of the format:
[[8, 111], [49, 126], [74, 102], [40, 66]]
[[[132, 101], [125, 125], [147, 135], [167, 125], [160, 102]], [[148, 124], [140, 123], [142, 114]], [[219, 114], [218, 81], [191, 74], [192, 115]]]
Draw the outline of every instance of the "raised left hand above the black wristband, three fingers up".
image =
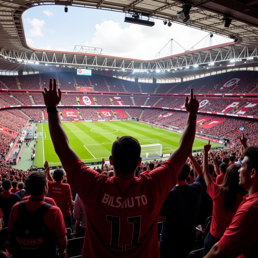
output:
[[58, 88], [58, 94], [57, 94], [57, 81], [54, 79], [54, 85], [52, 84], [52, 78], [49, 80], [49, 90], [47, 88], [44, 88], [44, 91], [42, 91], [44, 102], [46, 107], [55, 106], [57, 107], [60, 100], [61, 100], [61, 94], [62, 92]]

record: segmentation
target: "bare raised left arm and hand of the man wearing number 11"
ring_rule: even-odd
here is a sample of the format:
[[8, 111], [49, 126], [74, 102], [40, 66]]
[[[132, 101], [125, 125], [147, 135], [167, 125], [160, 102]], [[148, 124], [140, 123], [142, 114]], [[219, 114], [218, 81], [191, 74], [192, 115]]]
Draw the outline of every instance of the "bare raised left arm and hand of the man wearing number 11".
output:
[[54, 149], [63, 165], [63, 168], [67, 172], [69, 165], [76, 159], [79, 159], [79, 157], [75, 153], [75, 151], [72, 150], [69, 146], [67, 135], [61, 125], [58, 110], [53, 111], [54, 108], [58, 106], [62, 94], [60, 89], [58, 89], [57, 93], [56, 79], [54, 79], [54, 84], [52, 84], [52, 79], [49, 80], [49, 90], [47, 90], [47, 88], [44, 88], [42, 94], [48, 111], [49, 132], [54, 145]]

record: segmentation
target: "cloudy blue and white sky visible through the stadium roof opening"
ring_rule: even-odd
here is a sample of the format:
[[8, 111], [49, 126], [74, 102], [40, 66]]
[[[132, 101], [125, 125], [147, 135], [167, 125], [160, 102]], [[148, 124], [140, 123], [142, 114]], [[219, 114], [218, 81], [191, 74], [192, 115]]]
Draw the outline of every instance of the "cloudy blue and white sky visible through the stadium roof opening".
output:
[[[44, 50], [73, 51], [75, 45], [100, 47], [103, 54], [135, 59], [153, 59], [170, 55], [170, 45], [159, 51], [173, 38], [185, 49], [208, 35], [205, 31], [172, 23], [164, 26], [155, 20], [153, 27], [124, 22], [124, 13], [81, 7], [44, 5], [28, 9], [23, 14], [27, 44]], [[209, 46], [209, 37], [194, 49]], [[231, 41], [214, 35], [212, 44]], [[173, 44], [173, 54], [184, 50]]]

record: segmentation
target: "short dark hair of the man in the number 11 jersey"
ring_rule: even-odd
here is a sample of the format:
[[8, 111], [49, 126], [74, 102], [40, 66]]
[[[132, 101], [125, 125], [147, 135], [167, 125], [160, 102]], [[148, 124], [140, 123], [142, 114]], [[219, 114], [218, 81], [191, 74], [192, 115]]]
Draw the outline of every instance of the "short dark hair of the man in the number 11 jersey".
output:
[[111, 155], [117, 174], [132, 174], [140, 159], [141, 145], [132, 136], [117, 137], [112, 145]]

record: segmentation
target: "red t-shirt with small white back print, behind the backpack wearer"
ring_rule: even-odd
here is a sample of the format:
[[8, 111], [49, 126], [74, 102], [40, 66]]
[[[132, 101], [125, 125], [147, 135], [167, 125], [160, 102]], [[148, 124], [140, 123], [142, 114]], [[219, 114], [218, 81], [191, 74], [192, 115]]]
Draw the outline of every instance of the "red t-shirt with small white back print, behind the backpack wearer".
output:
[[68, 201], [72, 199], [71, 188], [69, 184], [60, 182], [47, 182], [49, 194], [53, 198], [63, 213], [64, 217], [71, 216], [71, 209]]

